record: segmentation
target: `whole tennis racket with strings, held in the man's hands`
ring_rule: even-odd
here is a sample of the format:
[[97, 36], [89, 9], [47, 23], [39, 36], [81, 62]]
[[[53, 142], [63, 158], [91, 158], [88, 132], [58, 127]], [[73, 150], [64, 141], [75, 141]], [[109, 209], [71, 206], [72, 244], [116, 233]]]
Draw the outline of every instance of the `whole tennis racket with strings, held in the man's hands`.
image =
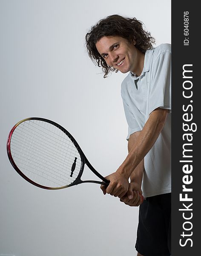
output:
[[[63, 189], [80, 183], [109, 185], [109, 180], [86, 159], [74, 137], [48, 119], [26, 118], [14, 125], [7, 153], [14, 169], [43, 189]], [[81, 180], [85, 164], [101, 181]]]

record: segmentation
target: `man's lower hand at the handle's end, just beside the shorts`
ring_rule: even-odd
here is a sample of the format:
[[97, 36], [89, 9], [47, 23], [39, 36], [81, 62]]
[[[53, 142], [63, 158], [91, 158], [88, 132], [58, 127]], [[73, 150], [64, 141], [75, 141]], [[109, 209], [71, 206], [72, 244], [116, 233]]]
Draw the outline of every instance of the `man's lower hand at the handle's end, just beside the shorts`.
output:
[[129, 183], [128, 192], [120, 199], [120, 201], [129, 206], [139, 206], [142, 204], [143, 195], [141, 186], [136, 182]]

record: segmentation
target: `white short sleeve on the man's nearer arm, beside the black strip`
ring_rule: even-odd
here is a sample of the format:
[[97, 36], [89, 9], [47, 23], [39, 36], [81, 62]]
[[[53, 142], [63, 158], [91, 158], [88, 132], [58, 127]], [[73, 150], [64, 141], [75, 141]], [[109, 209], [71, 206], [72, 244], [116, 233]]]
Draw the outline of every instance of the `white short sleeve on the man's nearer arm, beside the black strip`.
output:
[[170, 51], [162, 52], [154, 61], [150, 82], [149, 114], [156, 108], [171, 110]]

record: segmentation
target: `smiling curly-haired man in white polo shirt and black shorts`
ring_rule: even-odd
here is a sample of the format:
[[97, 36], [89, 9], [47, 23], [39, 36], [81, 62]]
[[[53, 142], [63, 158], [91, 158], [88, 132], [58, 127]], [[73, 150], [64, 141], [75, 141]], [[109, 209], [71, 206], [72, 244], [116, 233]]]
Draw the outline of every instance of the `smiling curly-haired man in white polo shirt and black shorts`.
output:
[[138, 256], [171, 253], [171, 46], [154, 48], [154, 42], [140, 21], [120, 15], [100, 20], [86, 34], [89, 57], [104, 78], [110, 71], [129, 72], [121, 84], [129, 154], [101, 189], [140, 205]]

